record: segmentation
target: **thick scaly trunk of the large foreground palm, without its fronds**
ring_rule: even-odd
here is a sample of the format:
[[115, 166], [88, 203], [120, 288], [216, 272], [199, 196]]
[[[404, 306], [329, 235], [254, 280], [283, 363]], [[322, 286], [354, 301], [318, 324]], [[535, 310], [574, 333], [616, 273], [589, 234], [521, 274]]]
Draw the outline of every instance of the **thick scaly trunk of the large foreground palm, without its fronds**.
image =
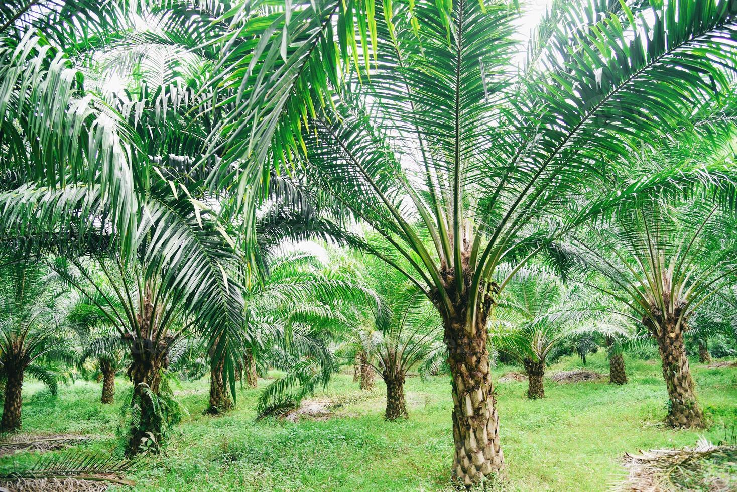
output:
[[[499, 417], [486, 346], [487, 296], [475, 322], [461, 314], [444, 320], [453, 385], [453, 479], [470, 486], [503, 468]], [[458, 313], [465, 313], [458, 306]], [[469, 316], [470, 317], [470, 316]]]

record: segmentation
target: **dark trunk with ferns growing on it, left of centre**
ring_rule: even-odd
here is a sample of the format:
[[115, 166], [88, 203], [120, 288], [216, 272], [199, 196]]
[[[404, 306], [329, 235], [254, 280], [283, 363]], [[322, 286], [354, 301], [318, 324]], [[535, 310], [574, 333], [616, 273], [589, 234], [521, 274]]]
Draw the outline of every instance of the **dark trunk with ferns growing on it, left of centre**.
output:
[[161, 376], [169, 368], [169, 343], [170, 340], [166, 340], [154, 348], [148, 339], [133, 342], [128, 377], [133, 382], [132, 403], [139, 405], [141, 416], [140, 425], [131, 427], [125, 449], [128, 455], [139, 452], [142, 443], [153, 449], [158, 449], [161, 444], [161, 429], [164, 422], [161, 419], [162, 415], [155, 411], [156, 406], [150, 393], [158, 398]]

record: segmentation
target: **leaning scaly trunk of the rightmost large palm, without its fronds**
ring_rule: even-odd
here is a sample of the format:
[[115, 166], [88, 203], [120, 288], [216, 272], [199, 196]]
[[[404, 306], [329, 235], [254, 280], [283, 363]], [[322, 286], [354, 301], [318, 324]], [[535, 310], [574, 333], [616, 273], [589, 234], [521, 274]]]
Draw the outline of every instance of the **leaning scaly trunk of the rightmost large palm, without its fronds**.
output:
[[663, 333], [656, 336], [656, 340], [663, 362], [663, 378], [668, 388], [666, 421], [671, 427], [701, 427], [704, 425], [704, 414], [696, 401], [694, 380], [691, 379], [683, 343], [685, 322], [680, 328], [676, 328], [674, 320], [666, 320], [661, 326]]

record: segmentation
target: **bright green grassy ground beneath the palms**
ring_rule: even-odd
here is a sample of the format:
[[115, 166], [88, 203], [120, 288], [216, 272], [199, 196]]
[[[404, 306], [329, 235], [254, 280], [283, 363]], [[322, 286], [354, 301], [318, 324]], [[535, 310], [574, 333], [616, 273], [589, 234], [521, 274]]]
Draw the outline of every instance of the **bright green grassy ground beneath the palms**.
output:
[[[526, 382], [497, 384], [505, 490], [604, 491], [621, 478], [624, 452], [691, 446], [732, 435], [737, 423], [737, 369], [708, 369], [692, 362], [699, 399], [712, 422], [702, 432], [674, 431], [661, 421], [666, 391], [655, 361], [626, 359], [630, 383], [557, 384], [545, 380], [545, 399], [528, 401]], [[564, 359], [552, 368], [580, 366]], [[607, 372], [602, 354], [587, 368]], [[497, 368], [495, 381], [510, 368]], [[260, 384], [267, 384], [262, 380]], [[128, 384], [118, 382], [118, 395]], [[38, 384], [24, 391], [26, 432], [99, 435], [91, 449], [111, 451], [119, 402], [99, 404], [99, 384], [76, 382], [52, 398]], [[340, 375], [326, 396], [343, 401], [325, 421], [254, 421], [257, 390], [239, 390], [238, 407], [203, 415], [208, 382], [185, 382], [178, 398], [189, 416], [178, 426], [153, 467], [139, 472], [146, 491], [441, 491], [453, 458], [450, 382], [447, 377], [408, 379], [408, 421], [383, 420], [383, 385], [373, 395]], [[35, 460], [34, 453], [0, 460], [7, 471]]]

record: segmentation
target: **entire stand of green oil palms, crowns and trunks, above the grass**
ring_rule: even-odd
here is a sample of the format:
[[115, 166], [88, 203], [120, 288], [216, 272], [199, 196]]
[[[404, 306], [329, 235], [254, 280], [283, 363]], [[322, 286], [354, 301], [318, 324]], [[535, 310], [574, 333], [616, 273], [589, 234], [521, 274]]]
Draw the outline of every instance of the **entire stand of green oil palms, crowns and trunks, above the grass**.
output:
[[673, 428], [710, 426], [688, 351], [733, 356], [737, 4], [10, 0], [0, 7], [1, 430], [22, 387], [132, 382], [122, 452], [164, 449], [282, 371], [345, 365], [411, 418], [452, 382], [451, 479], [505, 466], [492, 366], [657, 348]]

